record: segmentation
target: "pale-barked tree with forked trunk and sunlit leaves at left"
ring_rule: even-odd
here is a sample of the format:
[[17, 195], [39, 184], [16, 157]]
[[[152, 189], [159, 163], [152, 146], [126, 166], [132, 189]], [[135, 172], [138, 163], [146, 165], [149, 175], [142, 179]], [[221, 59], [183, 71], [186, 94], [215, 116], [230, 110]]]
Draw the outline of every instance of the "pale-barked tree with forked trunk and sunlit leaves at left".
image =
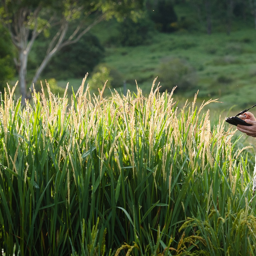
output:
[[[50, 36], [45, 58], [30, 82], [30, 89], [39, 79], [49, 60], [64, 46], [71, 45], [94, 25], [115, 16], [135, 15], [142, 8], [143, 0], [0, 0], [0, 21], [11, 35], [17, 49], [15, 58], [19, 74], [22, 102], [28, 98], [28, 55], [39, 34]], [[55, 27], [55, 34], [52, 28]], [[57, 29], [56, 29], [57, 28]]]

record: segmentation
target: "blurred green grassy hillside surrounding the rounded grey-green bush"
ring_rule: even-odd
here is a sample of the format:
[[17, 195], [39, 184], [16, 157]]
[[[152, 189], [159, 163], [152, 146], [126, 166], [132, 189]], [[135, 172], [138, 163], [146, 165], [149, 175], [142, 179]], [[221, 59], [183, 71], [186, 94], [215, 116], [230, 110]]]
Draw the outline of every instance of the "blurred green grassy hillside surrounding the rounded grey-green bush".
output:
[[[251, 90], [256, 80], [254, 38], [254, 29], [233, 32], [230, 36], [224, 32], [157, 34], [151, 45], [108, 49], [105, 62], [125, 74], [131, 86], [137, 79], [146, 89], [145, 84], [158, 75], [156, 67], [161, 58], [185, 58], [198, 75], [197, 87], [185, 92], [187, 96], [193, 96], [199, 89], [199, 96], [218, 96], [224, 97], [225, 102], [236, 102], [234, 98]], [[246, 100], [240, 99], [242, 104], [254, 102], [253, 96], [248, 96]]]

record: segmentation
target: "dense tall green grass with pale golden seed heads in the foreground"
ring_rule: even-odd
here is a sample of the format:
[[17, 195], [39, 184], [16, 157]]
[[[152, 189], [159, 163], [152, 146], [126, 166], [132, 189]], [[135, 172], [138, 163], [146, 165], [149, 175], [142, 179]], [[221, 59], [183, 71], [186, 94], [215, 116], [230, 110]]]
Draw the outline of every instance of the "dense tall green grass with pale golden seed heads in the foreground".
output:
[[[20, 255], [254, 255], [246, 147], [205, 106], [42, 87], [0, 105], [0, 246]], [[16, 246], [16, 247], [15, 247]], [[16, 252], [13, 248], [17, 248]]]

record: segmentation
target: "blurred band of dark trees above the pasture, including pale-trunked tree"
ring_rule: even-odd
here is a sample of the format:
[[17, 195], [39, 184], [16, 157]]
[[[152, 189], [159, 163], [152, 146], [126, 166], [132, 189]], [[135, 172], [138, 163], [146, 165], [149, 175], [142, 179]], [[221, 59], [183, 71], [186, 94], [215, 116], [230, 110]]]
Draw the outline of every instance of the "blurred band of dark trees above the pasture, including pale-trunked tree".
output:
[[[178, 17], [177, 6], [194, 16]], [[0, 89], [16, 70], [24, 102], [42, 74], [67, 79], [92, 71], [104, 47], [90, 30], [112, 18], [119, 23], [110, 43], [136, 46], [155, 30], [211, 34], [221, 24], [230, 34], [235, 19], [256, 28], [256, 0], [0, 0]]]

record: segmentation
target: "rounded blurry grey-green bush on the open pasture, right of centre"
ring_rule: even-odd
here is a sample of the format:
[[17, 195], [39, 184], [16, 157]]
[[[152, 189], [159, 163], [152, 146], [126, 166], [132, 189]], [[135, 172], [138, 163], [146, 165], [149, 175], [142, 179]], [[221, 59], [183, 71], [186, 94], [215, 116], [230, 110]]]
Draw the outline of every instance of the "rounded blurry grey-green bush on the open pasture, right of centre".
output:
[[177, 91], [190, 90], [197, 83], [196, 70], [185, 60], [180, 58], [165, 58], [157, 70], [161, 84], [161, 91], [172, 90], [177, 86]]

